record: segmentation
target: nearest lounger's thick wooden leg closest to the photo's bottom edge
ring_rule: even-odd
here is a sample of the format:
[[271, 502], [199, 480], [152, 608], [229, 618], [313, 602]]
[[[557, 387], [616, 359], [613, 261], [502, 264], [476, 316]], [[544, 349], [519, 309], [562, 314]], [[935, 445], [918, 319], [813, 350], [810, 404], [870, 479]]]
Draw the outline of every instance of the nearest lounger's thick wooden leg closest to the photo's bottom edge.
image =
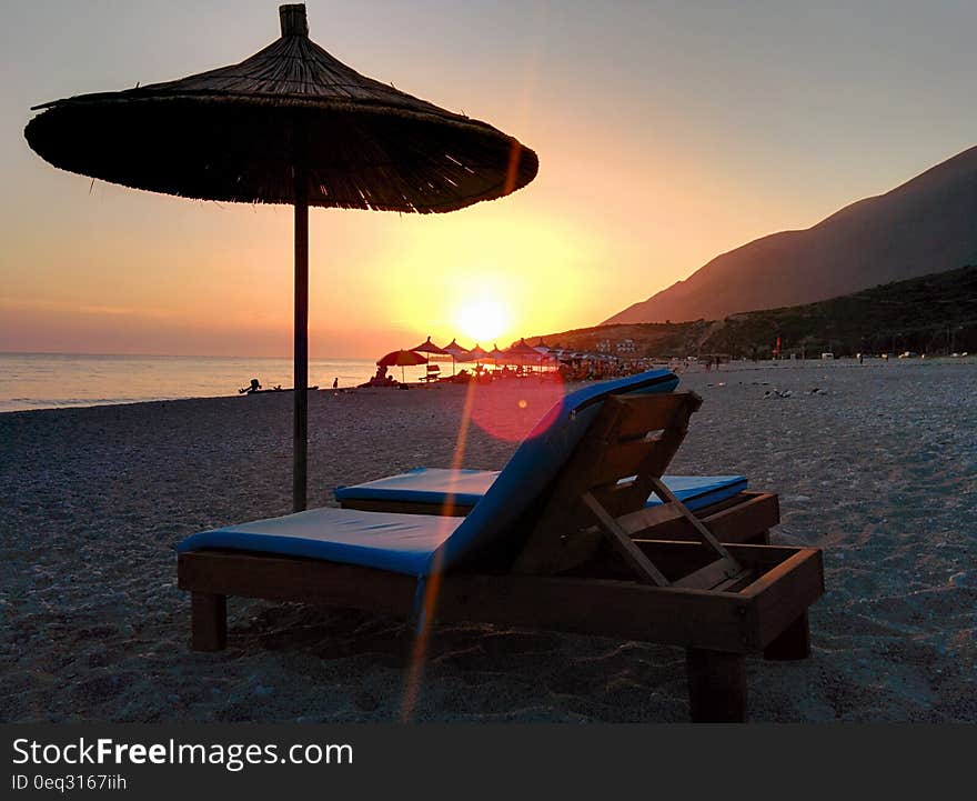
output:
[[689, 648], [685, 652], [693, 723], [746, 721], [746, 660], [741, 653]]

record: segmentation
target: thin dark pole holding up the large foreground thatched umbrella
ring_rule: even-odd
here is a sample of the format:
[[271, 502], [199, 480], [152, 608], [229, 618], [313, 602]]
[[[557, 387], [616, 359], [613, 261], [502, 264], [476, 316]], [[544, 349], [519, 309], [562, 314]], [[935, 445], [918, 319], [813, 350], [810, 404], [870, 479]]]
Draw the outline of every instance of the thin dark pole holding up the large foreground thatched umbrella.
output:
[[295, 180], [295, 401], [292, 419], [292, 510], [305, 509], [309, 437], [309, 198]]

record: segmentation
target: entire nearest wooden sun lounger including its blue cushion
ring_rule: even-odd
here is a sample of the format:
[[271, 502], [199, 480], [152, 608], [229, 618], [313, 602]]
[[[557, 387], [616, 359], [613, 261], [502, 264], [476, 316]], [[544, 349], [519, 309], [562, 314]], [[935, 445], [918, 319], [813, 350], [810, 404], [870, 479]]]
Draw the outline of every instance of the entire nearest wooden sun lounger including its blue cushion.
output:
[[[323, 508], [189, 537], [192, 647], [224, 647], [228, 595], [645, 640], [686, 649], [693, 720], [744, 720], [745, 655], [809, 653], [820, 551], [721, 543], [661, 479], [701, 399], [636, 378], [566, 396], [467, 517]], [[675, 515], [695, 541], [647, 537]]]

